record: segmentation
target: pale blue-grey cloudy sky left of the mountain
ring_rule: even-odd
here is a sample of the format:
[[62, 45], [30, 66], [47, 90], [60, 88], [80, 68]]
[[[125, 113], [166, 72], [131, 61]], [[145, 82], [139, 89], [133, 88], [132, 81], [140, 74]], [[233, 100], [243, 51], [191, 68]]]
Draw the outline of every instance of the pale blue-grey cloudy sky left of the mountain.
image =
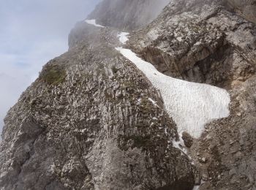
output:
[[0, 133], [7, 110], [99, 0], [0, 0]]

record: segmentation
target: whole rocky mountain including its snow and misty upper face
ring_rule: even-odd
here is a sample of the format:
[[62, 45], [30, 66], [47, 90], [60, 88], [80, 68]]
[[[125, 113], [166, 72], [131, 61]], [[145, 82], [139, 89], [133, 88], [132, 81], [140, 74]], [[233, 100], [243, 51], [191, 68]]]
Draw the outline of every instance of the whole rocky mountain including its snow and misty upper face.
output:
[[0, 189], [256, 189], [255, 6], [103, 0], [7, 114]]

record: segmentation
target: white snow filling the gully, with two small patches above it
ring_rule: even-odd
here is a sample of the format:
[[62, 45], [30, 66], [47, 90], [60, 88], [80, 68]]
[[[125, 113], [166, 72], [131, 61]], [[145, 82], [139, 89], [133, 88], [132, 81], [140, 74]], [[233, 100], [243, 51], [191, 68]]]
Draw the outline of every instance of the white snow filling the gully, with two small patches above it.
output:
[[[86, 22], [102, 27], [95, 20]], [[124, 32], [118, 34], [120, 42], [125, 44], [128, 35]], [[225, 89], [168, 77], [158, 72], [152, 64], [143, 61], [132, 50], [123, 47], [116, 47], [116, 50], [132, 61], [161, 92], [165, 109], [177, 124], [178, 134], [188, 132], [192, 137], [199, 138], [206, 123], [230, 114], [230, 95]]]

